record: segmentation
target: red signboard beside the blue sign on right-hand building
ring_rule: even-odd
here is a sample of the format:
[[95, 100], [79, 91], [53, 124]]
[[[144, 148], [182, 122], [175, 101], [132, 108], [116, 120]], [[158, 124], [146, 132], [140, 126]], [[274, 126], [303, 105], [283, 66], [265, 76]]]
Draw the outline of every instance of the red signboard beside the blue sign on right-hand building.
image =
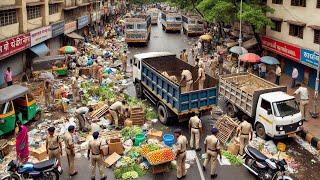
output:
[[262, 46], [277, 54], [290, 58], [294, 61], [300, 62], [300, 47], [281, 42], [269, 37], [262, 37]]

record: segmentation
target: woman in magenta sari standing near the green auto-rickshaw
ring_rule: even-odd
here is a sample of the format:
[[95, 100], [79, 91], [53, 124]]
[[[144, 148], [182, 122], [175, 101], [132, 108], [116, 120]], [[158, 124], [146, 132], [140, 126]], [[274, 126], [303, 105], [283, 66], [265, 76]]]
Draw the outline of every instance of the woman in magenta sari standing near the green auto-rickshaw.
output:
[[29, 142], [28, 142], [28, 128], [16, 122], [16, 153], [17, 159], [20, 163], [26, 163], [29, 159]]

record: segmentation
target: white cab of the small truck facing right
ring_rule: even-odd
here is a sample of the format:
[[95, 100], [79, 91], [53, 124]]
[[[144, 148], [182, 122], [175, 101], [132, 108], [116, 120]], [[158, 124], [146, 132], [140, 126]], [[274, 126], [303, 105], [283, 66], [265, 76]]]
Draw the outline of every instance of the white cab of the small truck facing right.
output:
[[301, 113], [293, 96], [281, 91], [260, 95], [254, 123], [259, 137], [292, 137], [302, 130], [302, 125]]

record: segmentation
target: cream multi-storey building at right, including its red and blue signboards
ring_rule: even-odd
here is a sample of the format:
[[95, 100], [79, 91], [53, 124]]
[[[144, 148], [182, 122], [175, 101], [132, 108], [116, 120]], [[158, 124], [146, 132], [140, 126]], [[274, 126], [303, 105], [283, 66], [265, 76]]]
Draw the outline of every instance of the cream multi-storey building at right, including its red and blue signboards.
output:
[[274, 27], [266, 28], [263, 47], [281, 60], [285, 73], [299, 70], [299, 80], [315, 85], [320, 46], [320, 0], [268, 0]]

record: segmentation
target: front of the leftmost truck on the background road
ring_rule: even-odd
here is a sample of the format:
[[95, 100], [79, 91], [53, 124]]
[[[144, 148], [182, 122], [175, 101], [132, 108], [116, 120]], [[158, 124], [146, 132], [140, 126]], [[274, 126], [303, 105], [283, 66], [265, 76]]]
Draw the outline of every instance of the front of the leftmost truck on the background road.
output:
[[125, 41], [127, 43], [148, 43], [151, 33], [149, 15], [133, 15], [125, 19]]

